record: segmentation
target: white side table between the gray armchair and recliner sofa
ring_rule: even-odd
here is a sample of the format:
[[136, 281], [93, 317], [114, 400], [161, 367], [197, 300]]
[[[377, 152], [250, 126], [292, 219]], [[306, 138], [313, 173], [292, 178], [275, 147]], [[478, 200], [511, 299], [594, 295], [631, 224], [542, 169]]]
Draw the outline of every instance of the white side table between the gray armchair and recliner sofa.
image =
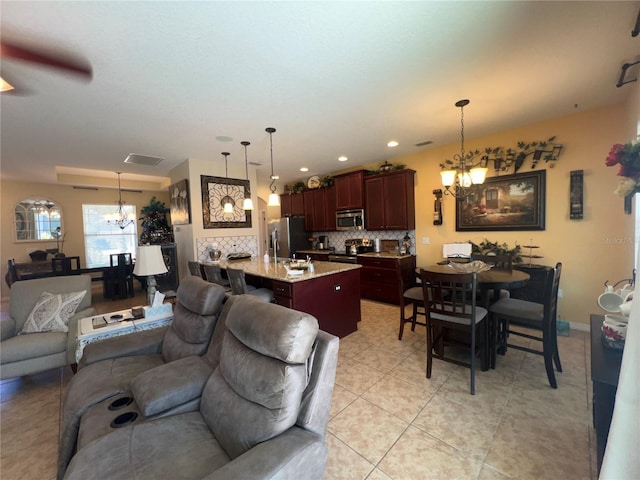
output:
[[[105, 324], [105, 320], [112, 315], [122, 315], [123, 320], [119, 322]], [[95, 322], [94, 322], [95, 321]], [[107, 338], [128, 335], [143, 330], [164, 327], [173, 321], [173, 312], [154, 317], [145, 317], [138, 320], [133, 319], [131, 309], [109, 312], [102, 315], [94, 315], [80, 320], [78, 324], [78, 346], [76, 348], [76, 362], [80, 362], [84, 347], [90, 343], [106, 340]], [[95, 326], [95, 324], [103, 326]]]

